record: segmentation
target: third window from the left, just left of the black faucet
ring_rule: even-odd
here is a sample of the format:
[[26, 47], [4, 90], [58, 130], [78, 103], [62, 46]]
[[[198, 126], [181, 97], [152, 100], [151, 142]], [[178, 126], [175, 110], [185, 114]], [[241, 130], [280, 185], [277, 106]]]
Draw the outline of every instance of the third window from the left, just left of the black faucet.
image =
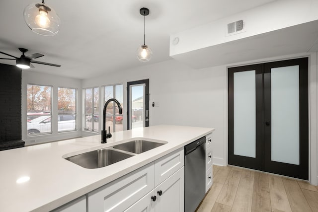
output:
[[84, 128], [85, 131], [98, 132], [98, 107], [99, 89], [98, 87], [84, 89]]

